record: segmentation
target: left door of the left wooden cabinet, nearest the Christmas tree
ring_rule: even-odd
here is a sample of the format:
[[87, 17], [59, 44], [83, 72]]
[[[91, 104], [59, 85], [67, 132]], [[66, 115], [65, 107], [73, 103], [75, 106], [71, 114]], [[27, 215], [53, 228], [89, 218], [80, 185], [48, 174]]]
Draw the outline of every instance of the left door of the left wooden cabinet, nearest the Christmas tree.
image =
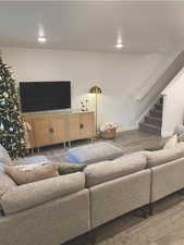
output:
[[51, 144], [50, 120], [47, 117], [34, 118], [36, 147]]

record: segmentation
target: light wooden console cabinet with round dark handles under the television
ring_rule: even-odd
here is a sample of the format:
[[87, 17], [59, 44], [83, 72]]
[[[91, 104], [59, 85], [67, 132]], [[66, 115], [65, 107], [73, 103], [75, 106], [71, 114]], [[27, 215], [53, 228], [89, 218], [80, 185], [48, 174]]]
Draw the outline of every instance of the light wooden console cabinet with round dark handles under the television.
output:
[[25, 122], [28, 122], [32, 126], [32, 131], [28, 132], [30, 148], [93, 138], [95, 132], [94, 118], [94, 112], [24, 113]]

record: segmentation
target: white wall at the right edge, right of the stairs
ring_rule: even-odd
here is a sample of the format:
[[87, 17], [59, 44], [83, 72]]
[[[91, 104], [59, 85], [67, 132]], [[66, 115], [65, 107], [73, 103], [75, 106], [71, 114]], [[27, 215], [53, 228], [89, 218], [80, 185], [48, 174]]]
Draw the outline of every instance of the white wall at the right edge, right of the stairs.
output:
[[184, 119], [184, 69], [174, 77], [169, 86], [162, 91], [163, 117], [162, 137], [171, 136]]

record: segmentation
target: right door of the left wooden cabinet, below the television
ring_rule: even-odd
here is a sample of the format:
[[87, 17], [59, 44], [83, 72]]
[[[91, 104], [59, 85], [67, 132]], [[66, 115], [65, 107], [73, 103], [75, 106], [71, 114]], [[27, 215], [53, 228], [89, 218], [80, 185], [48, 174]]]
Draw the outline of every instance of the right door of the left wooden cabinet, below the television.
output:
[[50, 122], [52, 144], [66, 142], [66, 115], [54, 115]]

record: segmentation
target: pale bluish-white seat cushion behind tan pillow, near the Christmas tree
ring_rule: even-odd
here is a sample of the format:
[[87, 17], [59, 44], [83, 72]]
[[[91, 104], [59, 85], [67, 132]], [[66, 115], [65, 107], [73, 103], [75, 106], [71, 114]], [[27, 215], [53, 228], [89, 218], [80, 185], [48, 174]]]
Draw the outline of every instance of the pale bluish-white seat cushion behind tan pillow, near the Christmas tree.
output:
[[50, 160], [45, 156], [34, 156], [34, 157], [26, 157], [21, 158], [19, 160], [14, 160], [14, 166], [24, 166], [24, 164], [45, 164], [49, 163]]

